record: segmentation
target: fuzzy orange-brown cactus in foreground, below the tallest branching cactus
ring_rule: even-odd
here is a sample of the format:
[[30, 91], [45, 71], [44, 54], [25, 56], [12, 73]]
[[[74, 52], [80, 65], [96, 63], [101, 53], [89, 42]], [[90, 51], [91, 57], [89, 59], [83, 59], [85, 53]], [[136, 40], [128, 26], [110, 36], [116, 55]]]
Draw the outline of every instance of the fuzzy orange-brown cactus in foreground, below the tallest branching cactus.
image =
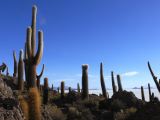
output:
[[37, 88], [29, 89], [29, 120], [41, 120], [41, 99]]

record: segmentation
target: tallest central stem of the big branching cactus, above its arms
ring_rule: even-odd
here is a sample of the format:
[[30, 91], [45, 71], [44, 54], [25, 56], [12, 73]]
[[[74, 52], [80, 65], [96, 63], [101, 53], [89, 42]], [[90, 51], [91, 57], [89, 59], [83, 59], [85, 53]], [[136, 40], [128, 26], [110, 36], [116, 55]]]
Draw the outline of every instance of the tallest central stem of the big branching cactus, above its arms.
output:
[[32, 56], [35, 54], [35, 48], [36, 48], [36, 14], [37, 14], [37, 7], [34, 5], [32, 8]]

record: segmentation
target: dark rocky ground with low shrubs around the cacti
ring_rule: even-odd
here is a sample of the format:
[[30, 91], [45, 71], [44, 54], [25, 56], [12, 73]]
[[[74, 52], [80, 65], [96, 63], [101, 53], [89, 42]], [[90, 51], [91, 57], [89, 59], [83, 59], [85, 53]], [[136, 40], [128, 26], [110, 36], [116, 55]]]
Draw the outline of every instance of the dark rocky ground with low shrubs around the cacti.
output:
[[[12, 77], [0, 78], [0, 120], [25, 120]], [[27, 92], [21, 93], [27, 96]], [[41, 94], [42, 97], [42, 94]], [[110, 99], [90, 95], [81, 100], [75, 91], [61, 99], [56, 91], [49, 91], [49, 102], [41, 105], [42, 120], [160, 120], [160, 102], [138, 99], [132, 92], [117, 92]]]

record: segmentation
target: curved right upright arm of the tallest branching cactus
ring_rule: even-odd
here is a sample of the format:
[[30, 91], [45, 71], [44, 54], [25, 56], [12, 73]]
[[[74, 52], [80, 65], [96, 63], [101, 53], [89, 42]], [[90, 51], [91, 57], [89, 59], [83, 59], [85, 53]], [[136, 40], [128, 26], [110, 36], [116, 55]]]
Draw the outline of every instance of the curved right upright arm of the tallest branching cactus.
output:
[[40, 60], [42, 58], [43, 54], [43, 32], [39, 31], [38, 32], [38, 50], [35, 56], [35, 64], [38, 65], [40, 63]]

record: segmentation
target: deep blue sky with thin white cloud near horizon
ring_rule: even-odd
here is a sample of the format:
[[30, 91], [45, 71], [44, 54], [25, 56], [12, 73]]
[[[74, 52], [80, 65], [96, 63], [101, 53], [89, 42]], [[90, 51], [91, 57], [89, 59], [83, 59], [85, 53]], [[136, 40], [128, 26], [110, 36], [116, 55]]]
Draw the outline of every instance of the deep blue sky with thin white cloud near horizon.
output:
[[[37, 29], [44, 31], [44, 54], [38, 72], [50, 85], [76, 87], [81, 65], [89, 64], [89, 87], [100, 88], [104, 64], [107, 88], [110, 72], [122, 75], [124, 88], [155, 86], [150, 60], [160, 75], [160, 1], [158, 0], [1, 0], [0, 62], [13, 74], [12, 51], [24, 48], [32, 5], [38, 7]], [[43, 80], [41, 80], [43, 83]]]

